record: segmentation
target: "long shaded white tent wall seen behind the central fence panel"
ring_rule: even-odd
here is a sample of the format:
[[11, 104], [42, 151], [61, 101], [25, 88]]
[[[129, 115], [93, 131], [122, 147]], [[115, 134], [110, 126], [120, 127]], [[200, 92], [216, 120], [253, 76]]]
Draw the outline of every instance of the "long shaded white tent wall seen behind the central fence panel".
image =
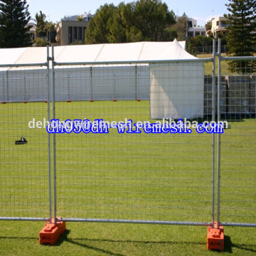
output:
[[55, 68], [55, 100], [149, 100], [149, 65]]

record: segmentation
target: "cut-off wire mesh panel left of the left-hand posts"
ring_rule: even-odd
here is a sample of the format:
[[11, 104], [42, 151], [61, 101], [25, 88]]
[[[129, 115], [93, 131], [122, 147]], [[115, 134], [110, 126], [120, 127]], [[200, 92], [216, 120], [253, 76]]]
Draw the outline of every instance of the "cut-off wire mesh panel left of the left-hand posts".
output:
[[46, 67], [0, 68], [0, 218], [49, 215], [46, 76]]

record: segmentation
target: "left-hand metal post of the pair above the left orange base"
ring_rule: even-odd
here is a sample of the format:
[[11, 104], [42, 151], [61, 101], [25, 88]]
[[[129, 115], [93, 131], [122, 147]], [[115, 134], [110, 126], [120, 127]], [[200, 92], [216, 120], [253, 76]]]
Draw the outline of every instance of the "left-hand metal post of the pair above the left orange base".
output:
[[[50, 54], [47, 46], [47, 114], [50, 122]], [[52, 193], [51, 193], [51, 161], [50, 161], [50, 133], [48, 133], [48, 170], [49, 170], [49, 218], [52, 223]]]

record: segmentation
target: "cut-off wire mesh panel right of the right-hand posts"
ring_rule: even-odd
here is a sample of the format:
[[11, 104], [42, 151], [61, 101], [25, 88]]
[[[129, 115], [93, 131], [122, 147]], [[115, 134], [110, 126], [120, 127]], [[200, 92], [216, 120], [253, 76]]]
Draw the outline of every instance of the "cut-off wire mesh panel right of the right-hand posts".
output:
[[[250, 61], [223, 60], [229, 129], [221, 134], [220, 221], [256, 223], [255, 75]], [[224, 68], [225, 67], [225, 68]]]

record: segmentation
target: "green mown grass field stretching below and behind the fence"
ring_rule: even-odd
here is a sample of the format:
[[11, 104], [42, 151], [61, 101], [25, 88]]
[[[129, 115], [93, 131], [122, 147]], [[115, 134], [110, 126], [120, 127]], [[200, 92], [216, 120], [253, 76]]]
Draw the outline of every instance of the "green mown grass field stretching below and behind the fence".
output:
[[[149, 119], [149, 101], [57, 102], [60, 120]], [[0, 216], [48, 217], [48, 134], [43, 102], [0, 105]], [[239, 122], [238, 122], [239, 121]], [[220, 221], [255, 223], [255, 118], [222, 135]], [[15, 145], [26, 137], [28, 144]], [[211, 221], [212, 135], [56, 134], [57, 215], [63, 218]], [[216, 157], [217, 159], [217, 157]], [[0, 255], [214, 255], [206, 227], [67, 223], [56, 246], [41, 222], [0, 222]], [[255, 255], [255, 228], [225, 228], [225, 252]]]

